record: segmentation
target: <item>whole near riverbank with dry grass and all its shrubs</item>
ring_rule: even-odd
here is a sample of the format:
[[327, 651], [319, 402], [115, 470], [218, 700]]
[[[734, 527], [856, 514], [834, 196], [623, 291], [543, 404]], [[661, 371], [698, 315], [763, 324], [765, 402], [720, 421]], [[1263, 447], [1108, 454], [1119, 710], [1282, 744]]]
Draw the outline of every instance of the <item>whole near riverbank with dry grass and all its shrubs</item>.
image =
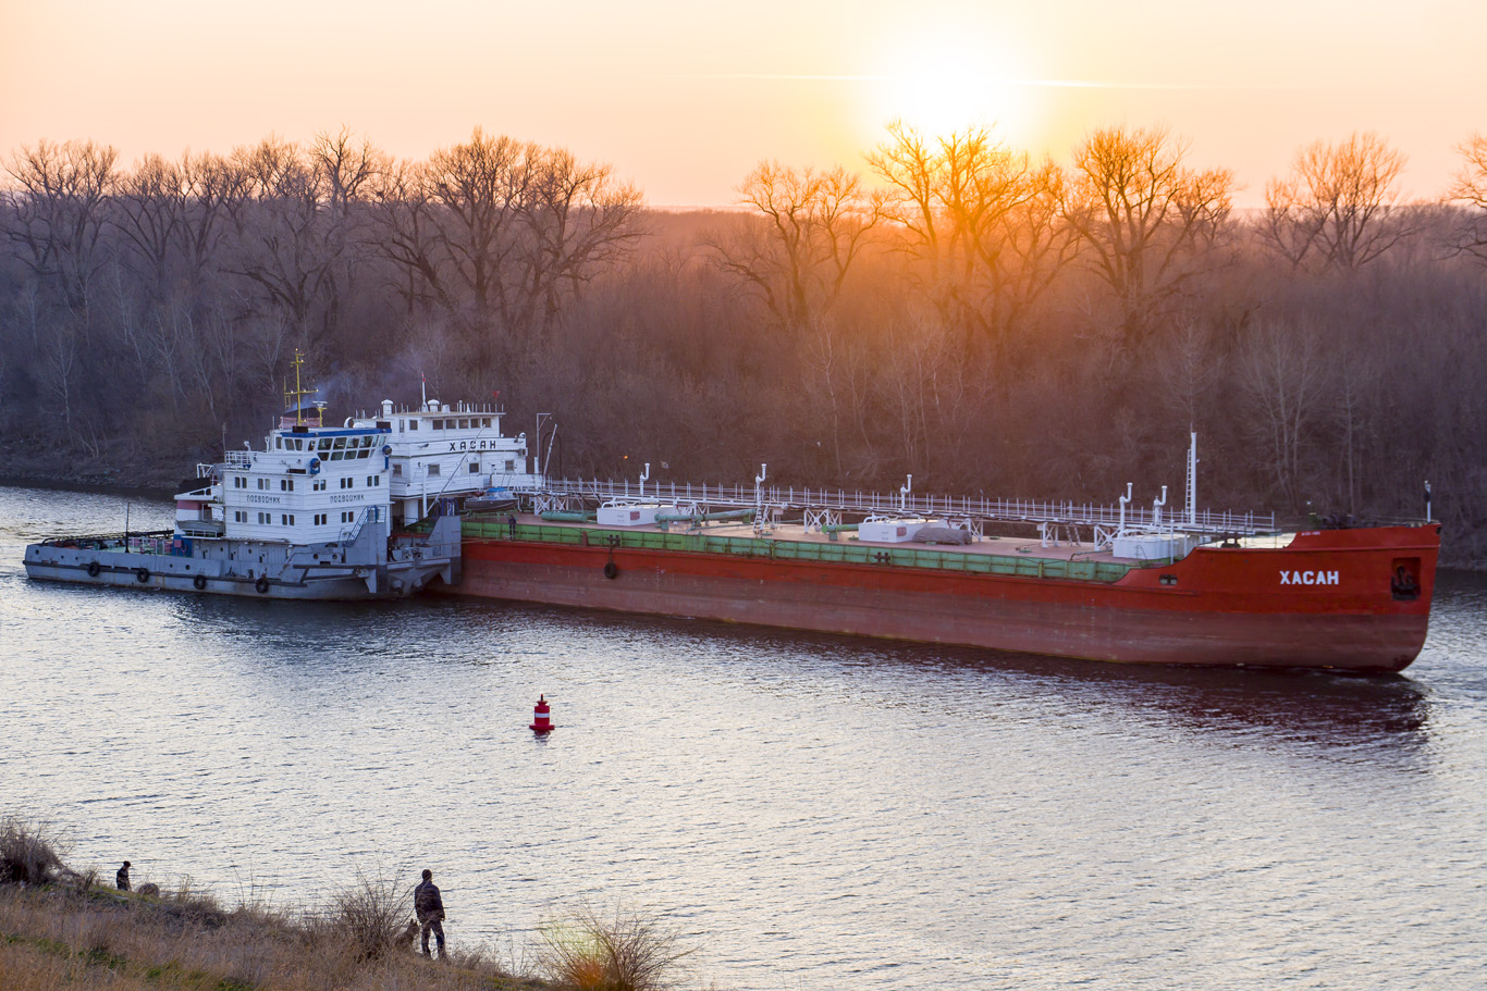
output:
[[45, 826], [0, 822], [6, 991], [651, 991], [677, 987], [687, 955], [653, 915], [581, 908], [546, 921], [529, 960], [459, 946], [448, 963], [427, 960], [409, 905], [375, 877], [321, 908], [228, 906], [187, 881], [119, 891], [64, 865]]

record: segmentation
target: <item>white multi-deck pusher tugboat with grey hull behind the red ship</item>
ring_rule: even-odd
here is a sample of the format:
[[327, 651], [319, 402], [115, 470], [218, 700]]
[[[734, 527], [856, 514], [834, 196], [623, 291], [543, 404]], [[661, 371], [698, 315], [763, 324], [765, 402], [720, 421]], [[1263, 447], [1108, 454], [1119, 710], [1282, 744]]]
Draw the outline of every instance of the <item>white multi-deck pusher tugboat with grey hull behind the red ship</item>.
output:
[[394, 599], [458, 582], [452, 504], [430, 493], [394, 529], [391, 431], [327, 428], [302, 401], [299, 367], [296, 354], [293, 413], [263, 450], [198, 465], [199, 484], [175, 496], [174, 530], [31, 544], [27, 575], [271, 599]]

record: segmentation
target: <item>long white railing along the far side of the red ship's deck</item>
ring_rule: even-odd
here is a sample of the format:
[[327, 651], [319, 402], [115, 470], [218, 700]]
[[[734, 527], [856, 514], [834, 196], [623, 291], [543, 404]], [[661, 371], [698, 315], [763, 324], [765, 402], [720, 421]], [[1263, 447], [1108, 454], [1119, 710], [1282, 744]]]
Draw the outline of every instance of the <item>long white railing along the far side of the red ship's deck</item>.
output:
[[[641, 487], [629, 480], [547, 480], [544, 492], [553, 496], [578, 496], [604, 502], [605, 499], [639, 499]], [[848, 492], [846, 489], [796, 489], [779, 486], [712, 486], [691, 483], [648, 483], [644, 492], [647, 501], [687, 501], [697, 505], [718, 507], [773, 507], [781, 513], [813, 513], [831, 510], [837, 513], [886, 513], [915, 517], [965, 517], [999, 520], [1004, 523], [1054, 523], [1066, 526], [1121, 526], [1121, 511], [1115, 505], [1091, 502], [1063, 502], [1048, 499], [987, 499], [981, 496], [913, 495], [909, 492]], [[1169, 514], [1170, 516], [1170, 514]], [[1233, 510], [1200, 510], [1185, 514], [1179, 529], [1191, 533], [1273, 533], [1274, 513], [1239, 513]], [[1127, 507], [1124, 529], [1145, 527], [1170, 529], [1149, 508]]]

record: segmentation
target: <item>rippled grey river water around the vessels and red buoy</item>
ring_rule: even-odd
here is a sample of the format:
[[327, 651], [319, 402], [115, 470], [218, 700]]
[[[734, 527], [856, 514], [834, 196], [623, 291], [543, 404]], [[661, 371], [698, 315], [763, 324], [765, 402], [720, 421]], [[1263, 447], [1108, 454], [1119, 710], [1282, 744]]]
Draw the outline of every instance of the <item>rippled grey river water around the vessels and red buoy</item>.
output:
[[[1401, 678], [507, 603], [30, 582], [162, 502], [0, 489], [0, 814], [226, 902], [436, 872], [458, 945], [656, 911], [690, 984], [1480, 988], [1487, 581]], [[546, 694], [558, 730], [526, 730]]]

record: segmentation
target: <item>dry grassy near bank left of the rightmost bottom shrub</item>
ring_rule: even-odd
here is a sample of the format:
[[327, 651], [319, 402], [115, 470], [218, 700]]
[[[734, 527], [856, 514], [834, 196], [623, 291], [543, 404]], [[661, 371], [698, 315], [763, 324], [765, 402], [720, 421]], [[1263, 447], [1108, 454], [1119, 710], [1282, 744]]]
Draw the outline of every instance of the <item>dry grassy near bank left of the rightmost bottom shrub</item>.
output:
[[259, 897], [223, 906], [180, 881], [161, 894], [70, 871], [46, 826], [0, 822], [3, 991], [504, 991], [540, 988], [485, 951], [434, 964], [394, 936], [410, 914], [387, 878], [358, 877], [318, 914]]

